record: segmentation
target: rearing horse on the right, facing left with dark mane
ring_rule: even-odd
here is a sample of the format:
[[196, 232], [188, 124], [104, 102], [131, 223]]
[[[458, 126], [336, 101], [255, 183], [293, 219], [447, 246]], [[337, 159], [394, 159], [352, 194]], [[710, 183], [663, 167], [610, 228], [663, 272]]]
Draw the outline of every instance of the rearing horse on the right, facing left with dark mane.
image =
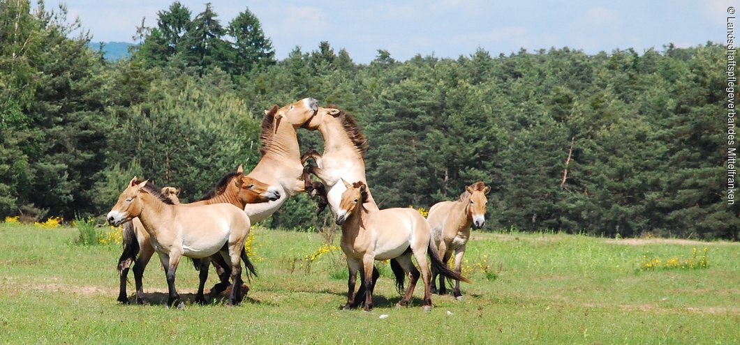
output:
[[[365, 154], [367, 139], [360, 131], [357, 121], [342, 109], [334, 106], [320, 107], [316, 115], [303, 125], [304, 129], [318, 130], [324, 141], [323, 154], [312, 150], [303, 154], [301, 162], [313, 159], [316, 165], [307, 166], [309, 172], [323, 183], [326, 195], [319, 202], [319, 212], [329, 203], [332, 214], [336, 215], [342, 193], [346, 190], [345, 181], [359, 181], [367, 184], [365, 177]], [[320, 190], [320, 188], [317, 188]], [[368, 191], [366, 208], [377, 210], [377, 204]]]

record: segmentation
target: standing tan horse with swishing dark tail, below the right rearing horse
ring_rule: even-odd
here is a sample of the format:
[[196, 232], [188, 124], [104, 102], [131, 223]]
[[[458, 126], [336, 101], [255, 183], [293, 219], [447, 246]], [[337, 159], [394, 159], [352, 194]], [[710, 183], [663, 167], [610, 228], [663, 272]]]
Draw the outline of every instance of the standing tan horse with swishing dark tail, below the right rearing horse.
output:
[[[419, 279], [419, 270], [411, 262], [413, 253], [421, 269], [424, 282], [423, 310], [431, 310], [430, 272], [427, 267], [426, 254], [431, 259], [431, 267], [443, 276], [451, 279], [468, 281], [450, 270], [431, 247], [431, 234], [426, 219], [411, 208], [387, 208], [369, 210], [364, 206], [368, 202], [367, 186], [363, 182], [349, 184], [342, 180], [346, 190], [342, 194], [335, 221], [342, 226], [341, 247], [347, 258], [349, 281], [347, 283], [347, 303], [344, 309], [357, 305], [354, 301], [354, 284], [357, 271], [360, 271], [362, 283], [366, 288], [365, 310], [372, 309], [373, 269], [375, 260], [395, 259], [406, 275], [411, 276], [408, 288], [397, 306], [404, 306], [411, 301]], [[399, 276], [397, 275], [397, 280]]]

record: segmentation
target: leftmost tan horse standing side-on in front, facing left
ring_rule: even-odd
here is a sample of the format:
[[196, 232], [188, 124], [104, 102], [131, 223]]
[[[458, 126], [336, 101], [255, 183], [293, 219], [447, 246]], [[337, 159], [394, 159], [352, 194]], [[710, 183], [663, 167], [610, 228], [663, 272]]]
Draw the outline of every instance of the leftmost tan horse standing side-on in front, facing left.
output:
[[[250, 272], [255, 274], [255, 270], [244, 249], [250, 222], [241, 208], [223, 203], [172, 205], [171, 200], [155, 188], [147, 187], [147, 181], [138, 181], [134, 177], [108, 212], [107, 220], [110, 225], [118, 226], [135, 217], [149, 233], [149, 241], [166, 268], [167, 307], [172, 307], [180, 298], [175, 289], [175, 273], [182, 256], [206, 259], [220, 253], [231, 267], [233, 284], [229, 304], [238, 304], [242, 300], [241, 261], [247, 267], [247, 275]], [[207, 279], [207, 269], [205, 271], [205, 275], [201, 273], [201, 287]], [[201, 288], [198, 295], [203, 295]]]

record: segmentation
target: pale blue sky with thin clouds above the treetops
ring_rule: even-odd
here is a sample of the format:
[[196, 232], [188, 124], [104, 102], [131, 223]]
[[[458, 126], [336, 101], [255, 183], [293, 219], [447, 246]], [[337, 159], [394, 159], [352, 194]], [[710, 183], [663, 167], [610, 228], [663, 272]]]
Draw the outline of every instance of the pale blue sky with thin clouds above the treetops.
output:
[[[68, 18], [80, 18], [92, 41], [132, 42], [146, 18], [155, 27], [157, 12], [173, 1], [47, 0], [47, 9], [63, 2]], [[192, 16], [207, 0], [181, 0]], [[736, 2], [733, 3], [733, 2]], [[491, 55], [551, 47], [588, 54], [633, 48], [637, 52], [669, 43], [692, 47], [724, 42], [727, 7], [732, 0], [411, 0], [411, 1], [224, 1], [211, 0], [226, 26], [249, 8], [272, 40], [278, 59], [295, 47], [303, 52], [329, 41], [344, 48], [356, 63], [368, 64], [386, 49], [391, 58], [414, 55], [457, 58], [482, 48]]]

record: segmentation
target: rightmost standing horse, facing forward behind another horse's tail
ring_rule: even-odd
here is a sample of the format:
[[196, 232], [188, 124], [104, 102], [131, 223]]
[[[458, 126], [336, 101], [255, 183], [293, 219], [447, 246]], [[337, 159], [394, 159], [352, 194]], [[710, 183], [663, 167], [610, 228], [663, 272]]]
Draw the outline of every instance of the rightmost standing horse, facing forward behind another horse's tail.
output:
[[[488, 202], [485, 195], [491, 191], [490, 186], [483, 182], [475, 182], [465, 187], [457, 201], [437, 202], [429, 208], [426, 219], [431, 228], [431, 237], [434, 247], [439, 250], [443, 262], [450, 259], [452, 250], [455, 251], [455, 272], [462, 269], [462, 256], [465, 255], [465, 246], [470, 239], [471, 225], [482, 228], [485, 225], [485, 204]], [[431, 270], [431, 290], [437, 293], [438, 272]], [[445, 280], [440, 277], [440, 295], [447, 293]], [[462, 301], [460, 281], [455, 281], [453, 295]]]

